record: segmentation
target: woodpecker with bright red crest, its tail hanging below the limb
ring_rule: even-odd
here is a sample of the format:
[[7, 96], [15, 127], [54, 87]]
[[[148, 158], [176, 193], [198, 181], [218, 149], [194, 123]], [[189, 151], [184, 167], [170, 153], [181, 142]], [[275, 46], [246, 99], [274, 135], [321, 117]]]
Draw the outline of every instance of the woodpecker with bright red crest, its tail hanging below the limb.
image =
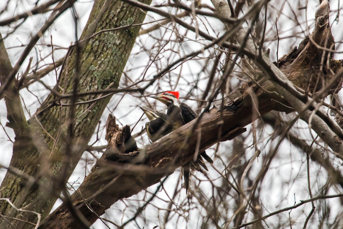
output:
[[[167, 91], [164, 92], [162, 95], [151, 96], [158, 101], [167, 105], [167, 115], [175, 122], [176, 127], [179, 128], [180, 126], [189, 123], [193, 119], [197, 117], [197, 114], [185, 103], [179, 103], [179, 92], [178, 91]], [[205, 151], [201, 152], [198, 155], [196, 161], [190, 161], [182, 166], [184, 169], [184, 179], [185, 179], [185, 186], [186, 186], [186, 194], [188, 192], [189, 187], [189, 175], [190, 169], [196, 168], [196, 170], [203, 173], [203, 171], [198, 168], [199, 164], [208, 171], [203, 159], [213, 164], [213, 160], [206, 154]]]

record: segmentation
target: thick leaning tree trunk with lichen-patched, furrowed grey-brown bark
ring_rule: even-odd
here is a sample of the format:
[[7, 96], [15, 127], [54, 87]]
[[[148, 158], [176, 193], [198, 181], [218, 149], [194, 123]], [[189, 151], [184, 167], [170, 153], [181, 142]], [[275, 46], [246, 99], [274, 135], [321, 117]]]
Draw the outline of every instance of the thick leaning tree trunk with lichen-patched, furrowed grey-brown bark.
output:
[[[144, 3], [150, 4], [150, 1]], [[141, 23], [144, 17], [145, 13], [140, 9], [121, 1], [95, 1], [80, 40], [104, 29]], [[55, 90], [61, 94], [73, 93], [74, 83], [78, 85], [77, 91], [101, 90], [110, 83], [114, 83], [112, 87], [118, 87], [139, 28], [135, 26], [103, 32], [88, 39], [79, 49], [72, 48], [60, 75], [59, 87], [56, 85]], [[98, 96], [78, 97], [75, 102]], [[43, 218], [49, 214], [65, 180], [81, 158], [110, 96], [93, 103], [75, 105], [74, 112], [71, 112], [72, 106], [61, 108], [60, 103], [70, 104], [72, 99], [62, 100], [51, 93], [28, 121], [28, 131], [16, 136], [10, 167], [28, 176], [39, 177], [39, 181], [27, 183], [22, 176], [8, 170], [1, 184], [1, 197], [11, 198], [18, 208], [27, 206], [25, 209], [37, 211]], [[74, 114], [72, 118], [71, 114]], [[73, 125], [69, 127], [71, 122]], [[54, 186], [56, 183], [60, 185]], [[0, 204], [2, 215], [36, 221], [35, 215], [18, 214], [8, 204]], [[15, 224], [17, 228], [31, 228], [31, 225], [19, 221]], [[1, 218], [0, 227], [9, 225]]]

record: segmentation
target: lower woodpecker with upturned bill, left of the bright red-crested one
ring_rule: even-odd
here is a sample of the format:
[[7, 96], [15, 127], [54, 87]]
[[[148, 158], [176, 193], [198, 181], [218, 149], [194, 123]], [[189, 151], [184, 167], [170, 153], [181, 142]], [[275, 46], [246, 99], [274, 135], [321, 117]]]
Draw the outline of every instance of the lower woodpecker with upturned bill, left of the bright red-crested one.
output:
[[157, 141], [175, 129], [175, 123], [168, 115], [161, 112], [149, 111], [143, 107], [139, 108], [144, 111], [146, 117], [150, 120], [150, 122], [145, 123], [145, 130], [152, 142]]

